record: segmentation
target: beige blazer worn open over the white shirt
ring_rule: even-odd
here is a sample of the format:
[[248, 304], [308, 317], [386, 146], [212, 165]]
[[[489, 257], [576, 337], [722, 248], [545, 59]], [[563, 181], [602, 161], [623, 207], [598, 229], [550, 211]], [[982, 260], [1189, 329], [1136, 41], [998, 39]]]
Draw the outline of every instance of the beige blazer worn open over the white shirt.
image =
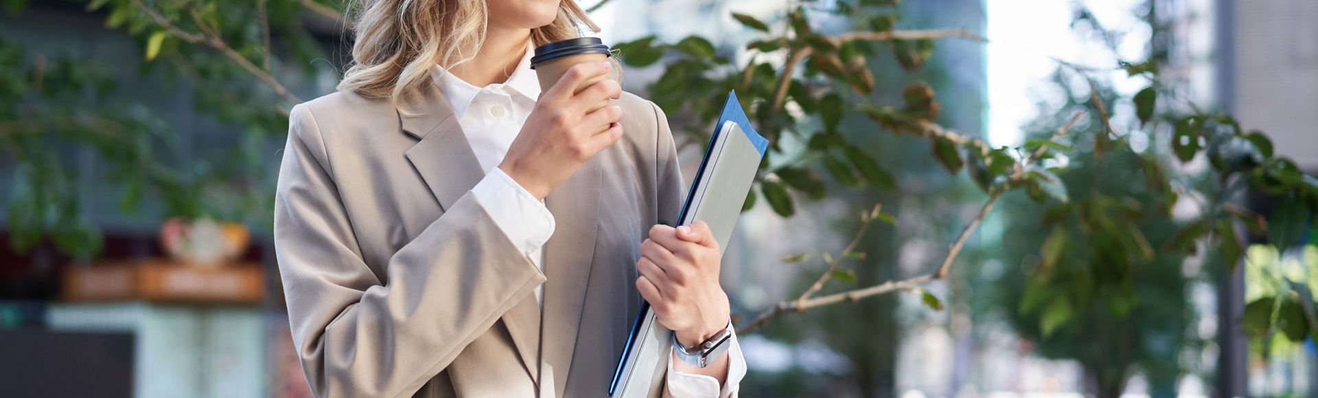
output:
[[641, 306], [638, 245], [683, 190], [663, 112], [613, 103], [622, 138], [546, 198], [543, 274], [471, 194], [484, 173], [434, 84], [397, 108], [348, 92], [294, 107], [274, 244], [311, 390], [606, 395]]

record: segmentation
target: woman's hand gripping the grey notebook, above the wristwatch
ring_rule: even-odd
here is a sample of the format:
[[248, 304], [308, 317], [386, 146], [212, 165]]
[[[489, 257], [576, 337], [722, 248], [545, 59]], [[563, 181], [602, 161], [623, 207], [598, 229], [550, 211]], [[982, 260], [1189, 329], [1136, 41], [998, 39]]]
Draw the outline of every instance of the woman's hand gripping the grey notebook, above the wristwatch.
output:
[[637, 289], [681, 344], [700, 344], [728, 327], [728, 294], [718, 285], [718, 241], [705, 221], [651, 227], [641, 254]]

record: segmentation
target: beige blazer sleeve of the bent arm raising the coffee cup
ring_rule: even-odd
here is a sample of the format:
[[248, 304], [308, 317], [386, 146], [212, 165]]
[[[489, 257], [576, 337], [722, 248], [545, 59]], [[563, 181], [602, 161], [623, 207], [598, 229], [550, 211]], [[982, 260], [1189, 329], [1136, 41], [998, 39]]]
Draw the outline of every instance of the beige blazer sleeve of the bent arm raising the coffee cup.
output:
[[311, 111], [294, 107], [274, 203], [294, 347], [318, 397], [411, 395], [544, 275], [468, 191], [380, 281], [330, 161]]

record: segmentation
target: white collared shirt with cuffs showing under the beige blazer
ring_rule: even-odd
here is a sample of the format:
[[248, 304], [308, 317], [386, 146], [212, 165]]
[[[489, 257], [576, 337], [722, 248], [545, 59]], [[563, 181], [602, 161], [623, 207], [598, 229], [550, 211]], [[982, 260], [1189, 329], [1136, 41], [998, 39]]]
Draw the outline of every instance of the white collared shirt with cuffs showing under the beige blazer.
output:
[[[536, 200], [498, 169], [540, 95], [540, 83], [531, 70], [531, 54], [529, 46], [513, 75], [503, 83], [476, 87], [438, 66], [432, 76], [453, 108], [453, 116], [457, 117], [467, 142], [472, 145], [476, 161], [485, 170], [485, 178], [472, 188], [472, 194], [482, 207], [490, 210], [490, 217], [503, 235], [543, 273], [544, 254], [540, 249], [554, 235], [554, 215], [544, 207], [544, 202]], [[535, 287], [535, 300], [544, 306], [542, 291], [542, 287]], [[735, 336], [729, 343], [728, 378], [722, 387], [713, 377], [675, 372], [670, 361], [668, 393], [673, 397], [734, 395], [746, 374], [746, 360]]]

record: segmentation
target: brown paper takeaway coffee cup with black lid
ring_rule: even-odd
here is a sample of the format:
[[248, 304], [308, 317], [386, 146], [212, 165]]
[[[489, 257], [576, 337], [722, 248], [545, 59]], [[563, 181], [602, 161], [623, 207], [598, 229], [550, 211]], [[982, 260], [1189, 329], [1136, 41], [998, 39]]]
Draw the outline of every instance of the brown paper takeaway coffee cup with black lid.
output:
[[[609, 46], [605, 46], [598, 37], [579, 37], [535, 47], [535, 55], [531, 57], [531, 69], [535, 70], [535, 75], [540, 79], [540, 90], [550, 91], [550, 87], [554, 87], [554, 83], [558, 83], [559, 78], [561, 78], [563, 74], [567, 72], [573, 65], [609, 59]], [[621, 76], [622, 69], [619, 65], [614, 63], [613, 70], [610, 70], [608, 75], [581, 82], [581, 84], [579, 84], [572, 92], [585, 90], [587, 87], [590, 87], [590, 84], [598, 83], [604, 79], [612, 79], [622, 83]], [[605, 100], [596, 104], [590, 109], [594, 111], [604, 108], [608, 104], [609, 101]]]

